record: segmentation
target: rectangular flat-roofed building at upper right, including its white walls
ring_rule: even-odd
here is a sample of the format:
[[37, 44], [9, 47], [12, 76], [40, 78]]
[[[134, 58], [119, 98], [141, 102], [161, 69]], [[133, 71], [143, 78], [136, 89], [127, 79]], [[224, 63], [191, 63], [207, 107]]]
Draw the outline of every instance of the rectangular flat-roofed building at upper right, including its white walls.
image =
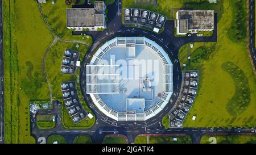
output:
[[176, 13], [177, 34], [183, 35], [191, 31], [213, 31], [214, 10], [179, 10]]

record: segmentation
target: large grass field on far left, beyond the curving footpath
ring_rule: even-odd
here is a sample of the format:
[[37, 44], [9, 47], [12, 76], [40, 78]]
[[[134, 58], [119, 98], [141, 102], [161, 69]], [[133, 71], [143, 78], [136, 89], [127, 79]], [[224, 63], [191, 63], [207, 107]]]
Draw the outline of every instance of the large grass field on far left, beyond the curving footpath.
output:
[[30, 100], [49, 99], [42, 57], [52, 36], [36, 1], [4, 1], [3, 20], [5, 143], [35, 143], [30, 136], [28, 106]]

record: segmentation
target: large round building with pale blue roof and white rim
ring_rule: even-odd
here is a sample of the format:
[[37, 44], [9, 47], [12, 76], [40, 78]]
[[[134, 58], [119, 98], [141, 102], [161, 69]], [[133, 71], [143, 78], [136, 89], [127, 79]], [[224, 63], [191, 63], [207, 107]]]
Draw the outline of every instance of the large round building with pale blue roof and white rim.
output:
[[152, 118], [164, 109], [172, 88], [172, 62], [147, 37], [115, 37], [86, 65], [86, 93], [117, 121]]

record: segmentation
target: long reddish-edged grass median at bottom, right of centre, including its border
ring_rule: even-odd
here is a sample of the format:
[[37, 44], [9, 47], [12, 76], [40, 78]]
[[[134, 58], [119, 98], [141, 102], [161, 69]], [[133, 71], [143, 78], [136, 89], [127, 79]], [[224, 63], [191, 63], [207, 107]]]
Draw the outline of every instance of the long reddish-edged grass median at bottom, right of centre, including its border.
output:
[[191, 144], [186, 134], [142, 134], [135, 138], [135, 144]]

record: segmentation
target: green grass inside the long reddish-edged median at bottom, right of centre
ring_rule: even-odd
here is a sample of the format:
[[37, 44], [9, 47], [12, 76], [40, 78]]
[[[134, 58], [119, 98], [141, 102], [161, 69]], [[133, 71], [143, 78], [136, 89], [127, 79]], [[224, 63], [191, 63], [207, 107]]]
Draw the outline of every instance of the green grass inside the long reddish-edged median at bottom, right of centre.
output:
[[[177, 138], [177, 141], [174, 141]], [[190, 136], [149, 136], [149, 144], [191, 144]], [[146, 136], [137, 136], [135, 144], [147, 144]]]

